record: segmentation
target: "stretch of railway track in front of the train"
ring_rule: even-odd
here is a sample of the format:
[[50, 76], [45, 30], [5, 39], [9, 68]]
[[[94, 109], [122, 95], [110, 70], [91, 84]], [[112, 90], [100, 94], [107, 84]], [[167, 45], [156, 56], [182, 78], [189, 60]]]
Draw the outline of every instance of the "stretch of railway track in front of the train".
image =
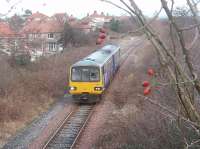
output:
[[43, 146], [43, 149], [72, 149], [93, 113], [94, 105], [74, 109]]

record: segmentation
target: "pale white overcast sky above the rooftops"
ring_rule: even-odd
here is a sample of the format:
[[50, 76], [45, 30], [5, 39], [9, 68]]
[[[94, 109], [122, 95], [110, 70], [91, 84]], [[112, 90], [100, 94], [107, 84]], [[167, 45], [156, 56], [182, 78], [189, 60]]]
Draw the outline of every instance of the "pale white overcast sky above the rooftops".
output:
[[[119, 2], [119, 0], [111, 0]], [[125, 0], [126, 1], [126, 0]], [[152, 16], [160, 8], [160, 0], [135, 0], [145, 15]], [[178, 6], [184, 4], [186, 0], [175, 0]], [[8, 3], [9, 2], [9, 3]], [[19, 3], [18, 3], [19, 2]], [[0, 0], [0, 13], [5, 14], [10, 7], [18, 3], [10, 14], [22, 13], [25, 9], [33, 12], [39, 11], [49, 16], [56, 12], [67, 12], [78, 18], [97, 10], [99, 13], [109, 13], [110, 15], [123, 15], [124, 11], [115, 8], [99, 0]]]

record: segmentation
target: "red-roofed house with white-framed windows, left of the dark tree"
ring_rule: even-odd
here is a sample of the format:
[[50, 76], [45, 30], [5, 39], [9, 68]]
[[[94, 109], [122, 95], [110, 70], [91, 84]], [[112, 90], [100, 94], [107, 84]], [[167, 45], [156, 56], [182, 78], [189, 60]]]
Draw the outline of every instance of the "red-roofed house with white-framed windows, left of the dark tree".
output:
[[67, 19], [66, 14], [55, 14], [48, 17], [39, 12], [31, 15], [21, 34], [27, 38], [26, 47], [32, 53], [53, 54], [61, 49], [59, 40]]

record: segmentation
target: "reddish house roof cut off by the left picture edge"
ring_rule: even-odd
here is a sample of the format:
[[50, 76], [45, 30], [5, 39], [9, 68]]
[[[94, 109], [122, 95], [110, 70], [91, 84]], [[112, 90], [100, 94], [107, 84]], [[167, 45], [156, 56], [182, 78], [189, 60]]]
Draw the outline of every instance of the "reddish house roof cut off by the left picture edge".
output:
[[0, 22], [0, 36], [1, 37], [13, 37], [15, 32], [11, 29], [8, 23]]

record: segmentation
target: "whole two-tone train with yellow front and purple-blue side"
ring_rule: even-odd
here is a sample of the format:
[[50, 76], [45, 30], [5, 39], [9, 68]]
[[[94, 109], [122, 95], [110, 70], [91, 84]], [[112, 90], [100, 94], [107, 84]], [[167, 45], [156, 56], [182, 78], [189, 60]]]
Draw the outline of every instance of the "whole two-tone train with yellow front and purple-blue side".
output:
[[101, 96], [120, 64], [120, 47], [106, 45], [70, 68], [69, 93], [75, 99]]

